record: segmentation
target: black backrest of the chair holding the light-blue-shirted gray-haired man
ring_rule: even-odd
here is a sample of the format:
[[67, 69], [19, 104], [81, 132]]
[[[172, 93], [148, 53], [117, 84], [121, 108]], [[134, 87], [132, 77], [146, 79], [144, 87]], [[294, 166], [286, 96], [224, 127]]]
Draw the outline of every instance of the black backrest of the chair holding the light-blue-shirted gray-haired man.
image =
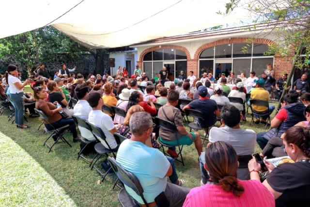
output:
[[139, 179], [135, 175], [121, 167], [121, 165], [118, 164], [114, 158], [108, 157], [108, 161], [114, 173], [122, 181], [122, 183], [135, 191], [142, 198], [143, 202], [147, 204], [143, 197], [143, 188], [140, 184]]

